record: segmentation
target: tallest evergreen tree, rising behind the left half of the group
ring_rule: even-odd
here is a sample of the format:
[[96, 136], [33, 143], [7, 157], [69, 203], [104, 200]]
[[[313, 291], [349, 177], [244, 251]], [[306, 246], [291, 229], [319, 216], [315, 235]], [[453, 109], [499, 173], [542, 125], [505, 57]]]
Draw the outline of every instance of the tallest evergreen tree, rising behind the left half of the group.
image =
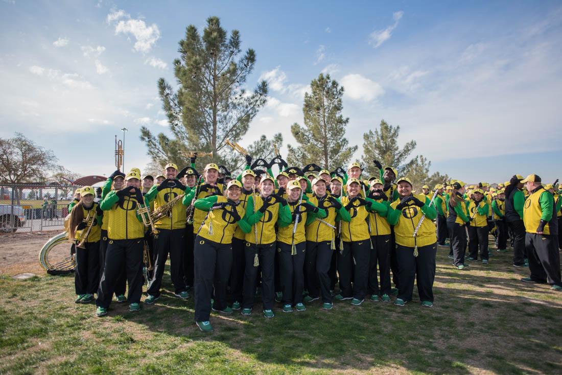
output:
[[244, 88], [253, 70], [256, 53], [242, 52], [238, 30], [230, 36], [220, 25], [219, 17], [209, 17], [201, 35], [189, 25], [180, 40], [180, 58], [174, 60], [177, 91], [164, 78], [158, 80], [158, 92], [174, 139], [153, 135], [141, 128], [140, 139], [147, 144], [148, 155], [160, 162], [175, 161], [185, 165], [185, 151], [212, 151], [213, 160], [232, 154], [225, 140], [238, 141], [246, 134], [250, 121], [265, 105], [268, 84], [257, 84], [253, 92]]

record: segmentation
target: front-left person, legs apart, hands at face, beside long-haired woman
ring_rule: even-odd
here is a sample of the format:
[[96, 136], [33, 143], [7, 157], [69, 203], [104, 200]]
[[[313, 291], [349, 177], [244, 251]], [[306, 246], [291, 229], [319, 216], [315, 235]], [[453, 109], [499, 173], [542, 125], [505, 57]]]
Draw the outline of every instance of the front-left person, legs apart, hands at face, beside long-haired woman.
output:
[[129, 284], [129, 311], [140, 310], [144, 224], [137, 210], [144, 201], [139, 189], [140, 175], [129, 172], [125, 181], [124, 189], [109, 192], [99, 204], [107, 211], [109, 242], [96, 300], [98, 317], [107, 315], [123, 263]]

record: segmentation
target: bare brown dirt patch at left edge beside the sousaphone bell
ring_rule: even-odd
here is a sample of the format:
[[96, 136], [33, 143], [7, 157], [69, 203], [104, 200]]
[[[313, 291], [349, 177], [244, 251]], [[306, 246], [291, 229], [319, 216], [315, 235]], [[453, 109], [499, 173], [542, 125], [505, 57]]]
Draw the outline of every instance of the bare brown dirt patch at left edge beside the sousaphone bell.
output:
[[39, 264], [39, 251], [49, 238], [60, 231], [13, 233], [0, 236], [0, 274], [44, 273]]

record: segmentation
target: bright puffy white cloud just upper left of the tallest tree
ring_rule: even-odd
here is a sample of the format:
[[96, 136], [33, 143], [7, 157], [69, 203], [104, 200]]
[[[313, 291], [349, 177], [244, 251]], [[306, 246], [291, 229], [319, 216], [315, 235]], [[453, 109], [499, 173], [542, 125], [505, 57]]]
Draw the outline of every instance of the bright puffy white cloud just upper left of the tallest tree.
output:
[[136, 40], [134, 51], [148, 53], [156, 41], [160, 39], [160, 29], [156, 24], [148, 26], [142, 19], [132, 19], [129, 13], [124, 10], [111, 10], [106, 17], [106, 21], [108, 24], [118, 21], [115, 25], [115, 35], [133, 35]]

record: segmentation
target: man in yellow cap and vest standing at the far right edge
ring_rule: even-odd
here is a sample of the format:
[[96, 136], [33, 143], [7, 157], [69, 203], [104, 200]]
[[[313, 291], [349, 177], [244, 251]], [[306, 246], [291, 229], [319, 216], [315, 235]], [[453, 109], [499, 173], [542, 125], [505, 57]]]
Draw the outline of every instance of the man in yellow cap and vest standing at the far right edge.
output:
[[562, 291], [560, 281], [560, 256], [558, 245], [558, 220], [552, 194], [542, 186], [541, 178], [529, 174], [521, 183], [529, 192], [523, 209], [525, 224], [525, 250], [529, 257], [531, 275], [521, 281], [549, 283], [551, 289]]

